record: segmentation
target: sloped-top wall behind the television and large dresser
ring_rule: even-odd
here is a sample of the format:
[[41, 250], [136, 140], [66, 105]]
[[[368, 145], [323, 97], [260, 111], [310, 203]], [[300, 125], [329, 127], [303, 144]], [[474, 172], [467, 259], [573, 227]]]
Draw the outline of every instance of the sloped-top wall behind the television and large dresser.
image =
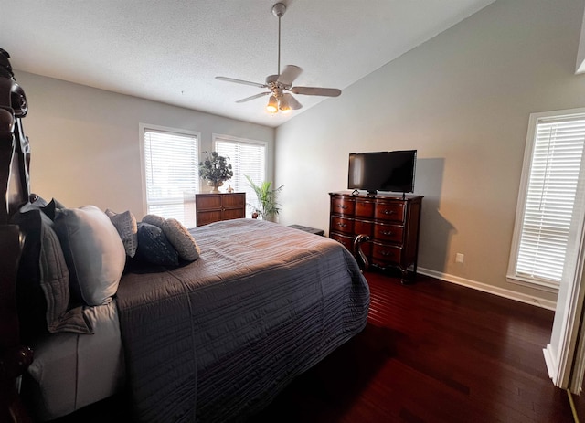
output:
[[328, 229], [327, 193], [346, 189], [348, 153], [417, 149], [419, 266], [554, 304], [505, 273], [529, 114], [585, 106], [574, 74], [584, 4], [497, 0], [280, 126], [280, 221]]

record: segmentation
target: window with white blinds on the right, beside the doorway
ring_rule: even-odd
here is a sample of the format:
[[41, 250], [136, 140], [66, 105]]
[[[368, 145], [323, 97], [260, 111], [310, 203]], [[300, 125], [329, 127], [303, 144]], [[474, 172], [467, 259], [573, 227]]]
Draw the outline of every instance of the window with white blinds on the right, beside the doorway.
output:
[[508, 280], [558, 289], [583, 227], [585, 110], [530, 116]]

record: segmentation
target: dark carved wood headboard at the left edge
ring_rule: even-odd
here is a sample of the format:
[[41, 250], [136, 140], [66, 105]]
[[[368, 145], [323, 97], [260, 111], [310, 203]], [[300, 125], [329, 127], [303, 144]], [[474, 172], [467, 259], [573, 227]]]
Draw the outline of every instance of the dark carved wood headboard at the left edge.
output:
[[25, 91], [16, 83], [10, 55], [0, 48], [0, 421], [26, 422], [16, 380], [33, 353], [20, 343], [16, 312], [16, 273], [24, 239], [10, 217], [30, 196], [30, 150], [22, 127]]

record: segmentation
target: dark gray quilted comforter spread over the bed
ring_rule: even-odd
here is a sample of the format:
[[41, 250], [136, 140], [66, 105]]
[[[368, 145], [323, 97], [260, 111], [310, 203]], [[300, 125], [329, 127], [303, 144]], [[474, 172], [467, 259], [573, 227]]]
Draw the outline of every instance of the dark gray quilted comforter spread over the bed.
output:
[[250, 417], [365, 327], [367, 282], [334, 240], [252, 219], [191, 233], [197, 261], [118, 289], [138, 421]]

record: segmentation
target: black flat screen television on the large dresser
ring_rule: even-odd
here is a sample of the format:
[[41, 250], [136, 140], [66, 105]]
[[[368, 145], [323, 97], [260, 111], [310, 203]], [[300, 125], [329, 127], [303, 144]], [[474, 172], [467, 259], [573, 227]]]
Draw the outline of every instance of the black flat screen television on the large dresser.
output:
[[347, 188], [412, 193], [416, 164], [416, 150], [350, 153]]

